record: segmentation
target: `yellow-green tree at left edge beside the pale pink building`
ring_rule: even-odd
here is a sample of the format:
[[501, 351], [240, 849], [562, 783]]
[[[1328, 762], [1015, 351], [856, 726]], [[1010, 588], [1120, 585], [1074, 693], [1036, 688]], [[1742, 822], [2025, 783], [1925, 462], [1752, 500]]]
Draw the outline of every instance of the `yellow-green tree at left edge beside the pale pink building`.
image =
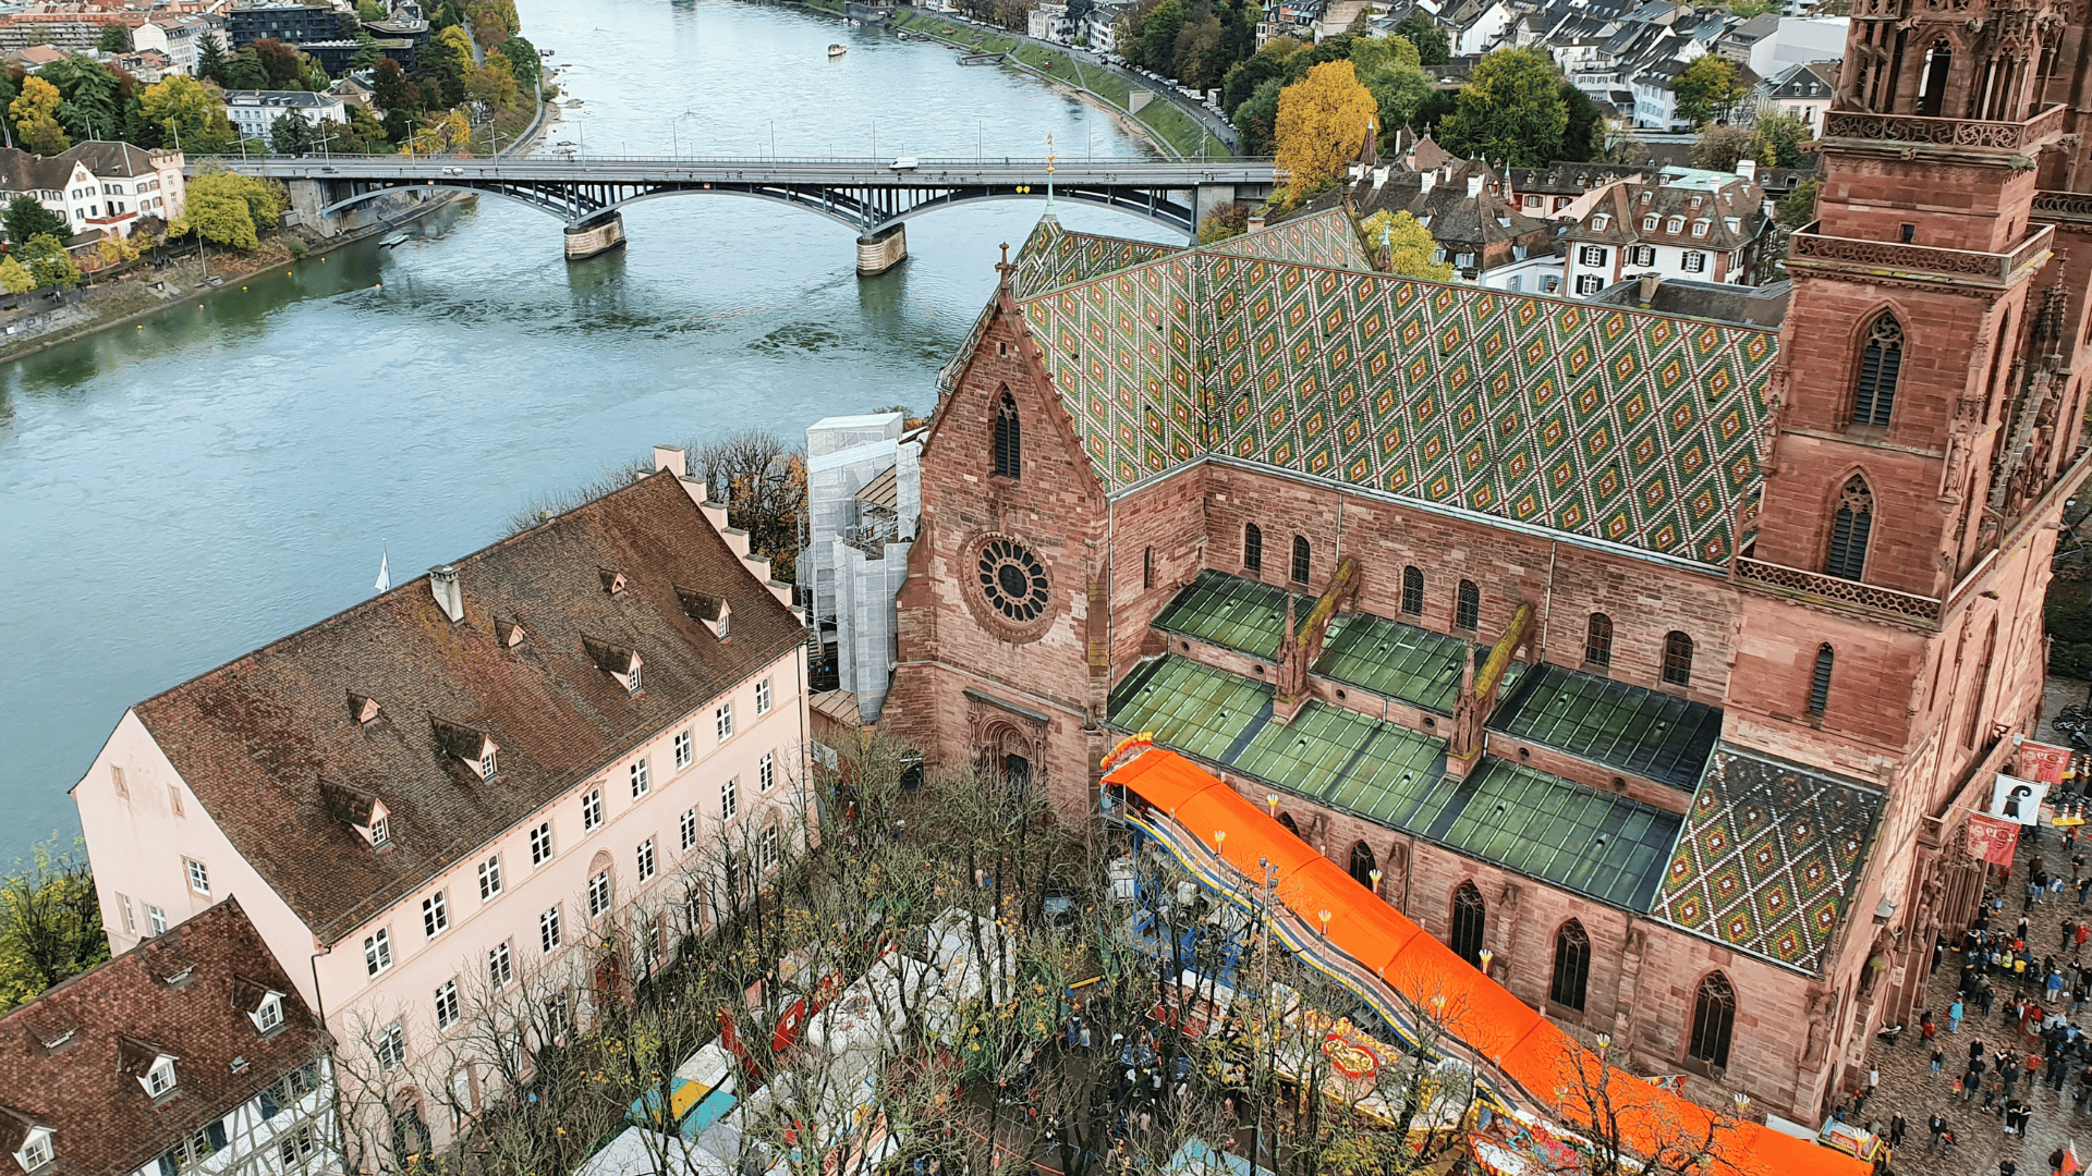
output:
[[[29, 287], [15, 289], [19, 272], [13, 257], [0, 262], [0, 285], [23, 293]], [[107, 958], [109, 940], [86, 858], [38, 845], [27, 864], [17, 862], [0, 881], [0, 1011]]]

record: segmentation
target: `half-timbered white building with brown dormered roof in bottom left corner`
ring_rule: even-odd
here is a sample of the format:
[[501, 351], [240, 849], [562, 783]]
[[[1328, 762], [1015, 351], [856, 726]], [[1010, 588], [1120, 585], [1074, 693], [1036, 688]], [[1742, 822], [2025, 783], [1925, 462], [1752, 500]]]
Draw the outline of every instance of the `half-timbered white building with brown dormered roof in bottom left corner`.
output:
[[339, 1172], [331, 1044], [224, 898], [0, 1017], [0, 1153], [25, 1176]]

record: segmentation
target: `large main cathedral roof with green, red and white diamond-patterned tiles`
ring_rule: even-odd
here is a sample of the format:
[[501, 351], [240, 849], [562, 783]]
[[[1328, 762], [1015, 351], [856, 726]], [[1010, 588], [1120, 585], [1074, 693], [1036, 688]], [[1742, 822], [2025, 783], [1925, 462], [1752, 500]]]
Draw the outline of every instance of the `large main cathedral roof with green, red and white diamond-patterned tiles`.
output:
[[1759, 488], [1776, 333], [1374, 274], [1341, 209], [1195, 249], [1042, 222], [1013, 293], [1111, 494], [1228, 458], [1722, 565]]

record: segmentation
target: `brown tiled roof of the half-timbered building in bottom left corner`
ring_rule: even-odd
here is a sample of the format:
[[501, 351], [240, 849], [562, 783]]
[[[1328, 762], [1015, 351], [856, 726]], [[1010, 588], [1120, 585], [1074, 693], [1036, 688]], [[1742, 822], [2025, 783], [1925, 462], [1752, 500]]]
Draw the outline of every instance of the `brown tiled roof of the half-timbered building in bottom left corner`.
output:
[[[247, 1015], [268, 992], [282, 996], [282, 1027], [264, 1038]], [[326, 1032], [228, 898], [0, 1019], [0, 1155], [44, 1126], [56, 1132], [50, 1172], [132, 1172], [324, 1048]], [[176, 1094], [155, 1107], [138, 1076], [161, 1053], [178, 1059]]]

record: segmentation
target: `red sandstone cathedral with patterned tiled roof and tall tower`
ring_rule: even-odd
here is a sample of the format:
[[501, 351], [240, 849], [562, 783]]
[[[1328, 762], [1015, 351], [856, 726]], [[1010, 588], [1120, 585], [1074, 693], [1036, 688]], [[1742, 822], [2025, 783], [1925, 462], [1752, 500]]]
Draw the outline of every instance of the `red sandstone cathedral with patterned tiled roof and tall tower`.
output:
[[1856, 17], [1778, 331], [1374, 274], [1341, 211], [1042, 222], [941, 381], [881, 732], [1071, 818], [1146, 732], [1636, 1069], [1822, 1122], [2038, 716], [2092, 75], [1992, 63], [2088, 31]]

